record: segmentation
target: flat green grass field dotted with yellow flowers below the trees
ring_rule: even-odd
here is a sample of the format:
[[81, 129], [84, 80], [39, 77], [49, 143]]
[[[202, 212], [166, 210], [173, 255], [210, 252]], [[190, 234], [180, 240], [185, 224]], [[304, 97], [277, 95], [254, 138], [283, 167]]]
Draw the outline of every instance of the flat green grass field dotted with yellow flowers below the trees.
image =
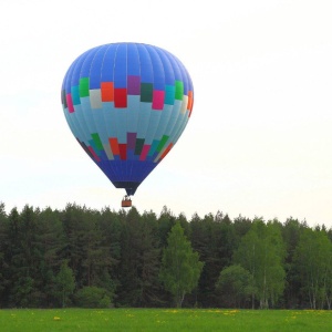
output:
[[332, 331], [332, 311], [224, 309], [0, 310], [1, 332]]

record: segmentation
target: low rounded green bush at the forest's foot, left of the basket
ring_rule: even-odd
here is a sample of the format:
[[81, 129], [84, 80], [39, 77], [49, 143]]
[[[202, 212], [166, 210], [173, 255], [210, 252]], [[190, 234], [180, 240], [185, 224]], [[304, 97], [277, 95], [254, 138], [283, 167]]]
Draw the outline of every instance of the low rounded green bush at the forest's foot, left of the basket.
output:
[[111, 298], [107, 291], [98, 287], [83, 287], [75, 295], [75, 304], [81, 308], [110, 308]]

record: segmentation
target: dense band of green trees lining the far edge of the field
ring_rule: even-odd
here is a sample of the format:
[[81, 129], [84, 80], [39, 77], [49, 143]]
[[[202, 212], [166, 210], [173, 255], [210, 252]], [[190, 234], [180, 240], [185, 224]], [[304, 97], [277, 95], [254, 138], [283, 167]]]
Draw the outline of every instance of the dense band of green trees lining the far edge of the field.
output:
[[221, 211], [188, 219], [167, 207], [6, 212], [0, 203], [0, 308], [331, 310], [331, 302], [324, 225]]

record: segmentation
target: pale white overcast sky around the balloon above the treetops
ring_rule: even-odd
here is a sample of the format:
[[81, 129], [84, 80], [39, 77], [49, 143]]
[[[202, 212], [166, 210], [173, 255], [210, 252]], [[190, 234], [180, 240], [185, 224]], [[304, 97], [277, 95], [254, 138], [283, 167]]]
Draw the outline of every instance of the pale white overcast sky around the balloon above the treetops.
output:
[[331, 17], [330, 0], [0, 0], [0, 201], [120, 209], [125, 193], [75, 142], [60, 90], [82, 52], [133, 41], [177, 55], [195, 87], [139, 211], [332, 227]]

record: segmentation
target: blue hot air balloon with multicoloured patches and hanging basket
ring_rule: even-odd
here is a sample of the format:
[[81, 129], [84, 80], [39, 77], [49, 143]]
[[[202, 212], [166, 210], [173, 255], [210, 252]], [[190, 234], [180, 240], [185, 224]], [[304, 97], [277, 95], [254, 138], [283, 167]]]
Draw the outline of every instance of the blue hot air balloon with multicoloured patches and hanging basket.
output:
[[111, 43], [81, 54], [61, 93], [66, 122], [116, 188], [122, 206], [174, 147], [191, 115], [194, 89], [184, 64], [160, 48]]

